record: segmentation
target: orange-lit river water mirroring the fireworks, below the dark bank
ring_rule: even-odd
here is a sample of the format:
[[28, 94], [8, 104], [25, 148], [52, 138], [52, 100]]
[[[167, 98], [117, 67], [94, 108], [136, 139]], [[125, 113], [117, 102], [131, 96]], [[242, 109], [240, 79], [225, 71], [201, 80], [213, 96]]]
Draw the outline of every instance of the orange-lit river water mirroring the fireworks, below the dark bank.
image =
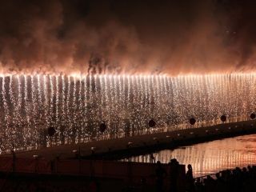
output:
[[[214, 174], [236, 166], [256, 164], [256, 134], [182, 146], [174, 150], [160, 150], [153, 155], [155, 161], [168, 163], [171, 158], [176, 158], [180, 164], [191, 164], [194, 177]], [[146, 154], [125, 161], [152, 162], [152, 158]]]

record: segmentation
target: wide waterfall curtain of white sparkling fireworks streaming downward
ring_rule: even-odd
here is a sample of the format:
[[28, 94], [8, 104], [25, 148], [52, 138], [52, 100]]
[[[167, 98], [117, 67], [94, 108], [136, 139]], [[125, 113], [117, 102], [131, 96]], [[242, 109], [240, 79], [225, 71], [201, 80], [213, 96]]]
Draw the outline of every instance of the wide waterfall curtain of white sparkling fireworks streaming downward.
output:
[[[247, 120], [256, 109], [256, 74], [54, 75], [0, 77], [0, 150], [186, 129]], [[157, 126], [149, 129], [154, 119]], [[101, 133], [100, 123], [107, 129]], [[56, 130], [47, 135], [47, 127]]]

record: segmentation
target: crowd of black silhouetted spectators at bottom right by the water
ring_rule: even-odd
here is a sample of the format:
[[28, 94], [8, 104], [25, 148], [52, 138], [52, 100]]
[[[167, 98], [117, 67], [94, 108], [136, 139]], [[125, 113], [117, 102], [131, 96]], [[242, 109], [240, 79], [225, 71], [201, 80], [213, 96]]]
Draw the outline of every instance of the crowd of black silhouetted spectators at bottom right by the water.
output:
[[[193, 177], [192, 166], [187, 166], [184, 183], [177, 186], [178, 162], [172, 159], [169, 163], [170, 172], [162, 168], [161, 162], [156, 163], [156, 191], [157, 192], [253, 192], [256, 191], [256, 166], [247, 166], [242, 169], [222, 170], [217, 174], [210, 174], [199, 178]], [[169, 178], [169, 185], [164, 186], [164, 180]]]

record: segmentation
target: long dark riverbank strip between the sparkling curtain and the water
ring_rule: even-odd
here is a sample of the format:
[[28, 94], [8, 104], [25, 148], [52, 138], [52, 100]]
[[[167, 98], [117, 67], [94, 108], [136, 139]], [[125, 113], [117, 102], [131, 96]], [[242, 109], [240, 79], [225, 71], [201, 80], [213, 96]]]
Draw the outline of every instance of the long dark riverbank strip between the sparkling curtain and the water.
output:
[[[230, 138], [254, 133], [256, 133], [256, 122], [255, 120], [250, 120], [194, 129], [174, 130], [157, 134], [138, 135], [114, 140], [52, 146], [40, 150], [18, 152], [16, 153], [16, 157], [31, 158], [37, 155], [43, 159], [78, 157], [86, 159], [120, 159], [138, 154], [148, 154], [154, 150], [172, 149], [177, 146], [187, 146], [219, 138]], [[12, 154], [2, 154], [0, 156], [10, 157], [11, 155]]]

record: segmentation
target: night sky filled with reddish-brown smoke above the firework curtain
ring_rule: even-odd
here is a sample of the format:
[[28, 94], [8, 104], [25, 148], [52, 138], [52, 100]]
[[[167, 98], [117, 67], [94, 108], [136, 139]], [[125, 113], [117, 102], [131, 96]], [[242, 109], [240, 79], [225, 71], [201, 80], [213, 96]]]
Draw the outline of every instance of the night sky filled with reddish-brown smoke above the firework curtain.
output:
[[6, 0], [3, 72], [184, 74], [256, 69], [256, 1]]

